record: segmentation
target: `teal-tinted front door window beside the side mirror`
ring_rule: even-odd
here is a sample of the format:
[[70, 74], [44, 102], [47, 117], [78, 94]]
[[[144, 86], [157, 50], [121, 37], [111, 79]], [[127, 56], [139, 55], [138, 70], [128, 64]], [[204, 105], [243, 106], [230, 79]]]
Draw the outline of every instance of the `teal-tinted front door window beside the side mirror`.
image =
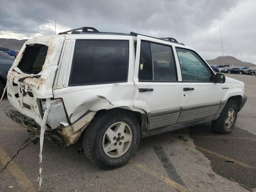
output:
[[188, 82], [212, 82], [212, 70], [192, 50], [176, 48], [182, 81]]

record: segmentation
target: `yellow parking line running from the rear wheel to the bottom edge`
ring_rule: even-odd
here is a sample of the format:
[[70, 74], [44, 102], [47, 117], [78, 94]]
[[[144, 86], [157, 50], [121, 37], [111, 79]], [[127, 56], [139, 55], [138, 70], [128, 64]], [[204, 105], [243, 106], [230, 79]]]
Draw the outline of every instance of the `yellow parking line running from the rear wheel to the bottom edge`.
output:
[[134, 162], [134, 161], [131, 161], [131, 162], [135, 167], [139, 168], [143, 172], [154, 176], [155, 178], [165, 182], [166, 184], [172, 186], [173, 188], [179, 190], [180, 192], [188, 192], [189, 191], [186, 187], [176, 183], [175, 181], [171, 180], [170, 178], [164, 177], [161, 174], [158, 174], [157, 172], [154, 172], [148, 166], [140, 164], [138, 162]]

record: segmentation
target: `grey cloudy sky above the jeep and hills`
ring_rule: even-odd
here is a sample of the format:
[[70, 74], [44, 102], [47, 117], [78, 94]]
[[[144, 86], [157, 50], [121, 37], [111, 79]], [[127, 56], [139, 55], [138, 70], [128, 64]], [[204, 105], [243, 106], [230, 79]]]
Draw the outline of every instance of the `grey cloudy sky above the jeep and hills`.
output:
[[174, 37], [205, 59], [256, 64], [256, 0], [0, 0], [0, 38], [31, 38], [72, 28]]

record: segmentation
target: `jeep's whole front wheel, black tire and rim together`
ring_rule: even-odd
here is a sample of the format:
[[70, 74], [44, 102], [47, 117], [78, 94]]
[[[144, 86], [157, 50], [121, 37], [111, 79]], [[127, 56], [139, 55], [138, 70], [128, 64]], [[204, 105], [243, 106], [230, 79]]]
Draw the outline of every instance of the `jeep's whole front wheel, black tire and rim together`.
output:
[[228, 100], [218, 119], [212, 121], [212, 129], [221, 134], [232, 132], [238, 114], [238, 105], [234, 100]]

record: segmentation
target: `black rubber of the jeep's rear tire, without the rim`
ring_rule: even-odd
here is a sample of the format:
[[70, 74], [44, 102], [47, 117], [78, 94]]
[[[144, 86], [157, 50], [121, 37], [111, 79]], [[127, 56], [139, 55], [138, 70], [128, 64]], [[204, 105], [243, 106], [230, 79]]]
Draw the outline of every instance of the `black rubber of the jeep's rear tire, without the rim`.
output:
[[[106, 130], [115, 122], [125, 122], [132, 130], [132, 142], [128, 150], [120, 157], [111, 158], [103, 150], [102, 141]], [[83, 149], [86, 157], [96, 166], [104, 169], [114, 169], [126, 164], [140, 143], [140, 125], [131, 112], [122, 109], [112, 109], [98, 112], [84, 131]]]

